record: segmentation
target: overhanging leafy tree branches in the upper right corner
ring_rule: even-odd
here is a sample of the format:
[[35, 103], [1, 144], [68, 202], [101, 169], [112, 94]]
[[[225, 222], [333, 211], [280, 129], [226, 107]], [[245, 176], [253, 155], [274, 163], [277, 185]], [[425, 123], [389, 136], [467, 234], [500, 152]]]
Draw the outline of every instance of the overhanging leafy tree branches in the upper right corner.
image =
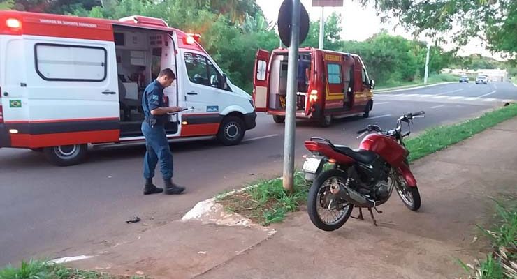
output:
[[381, 20], [396, 17], [414, 35], [424, 33], [444, 40], [444, 34], [454, 31], [453, 40], [466, 45], [469, 38], [481, 38], [490, 50], [517, 54], [517, 1], [515, 0], [361, 0], [373, 2], [382, 15]]

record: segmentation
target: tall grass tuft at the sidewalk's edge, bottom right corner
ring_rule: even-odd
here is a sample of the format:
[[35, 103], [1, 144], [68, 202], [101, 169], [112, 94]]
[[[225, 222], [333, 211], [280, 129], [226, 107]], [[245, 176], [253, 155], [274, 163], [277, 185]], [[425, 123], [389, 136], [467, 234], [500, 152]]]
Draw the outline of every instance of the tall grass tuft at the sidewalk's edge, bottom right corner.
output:
[[497, 224], [492, 229], [479, 226], [490, 240], [493, 252], [474, 265], [460, 265], [474, 279], [515, 279], [517, 278], [517, 199], [510, 197], [507, 204], [497, 202]]

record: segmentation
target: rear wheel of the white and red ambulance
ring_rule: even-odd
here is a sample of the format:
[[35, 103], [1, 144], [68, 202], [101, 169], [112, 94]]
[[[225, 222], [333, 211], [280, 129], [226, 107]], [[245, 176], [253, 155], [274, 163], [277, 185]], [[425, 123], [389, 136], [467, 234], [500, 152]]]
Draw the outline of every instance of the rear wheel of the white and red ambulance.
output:
[[87, 150], [88, 144], [73, 144], [45, 147], [43, 153], [50, 163], [64, 167], [82, 163], [86, 158]]

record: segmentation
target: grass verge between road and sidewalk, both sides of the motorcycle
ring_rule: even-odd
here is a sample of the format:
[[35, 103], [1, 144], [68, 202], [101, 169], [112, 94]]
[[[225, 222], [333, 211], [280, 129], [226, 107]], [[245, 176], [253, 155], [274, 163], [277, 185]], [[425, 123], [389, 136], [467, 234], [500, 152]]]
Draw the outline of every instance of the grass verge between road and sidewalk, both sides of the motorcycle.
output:
[[[515, 116], [517, 116], [517, 105], [509, 105], [460, 124], [426, 130], [405, 142], [407, 149], [411, 151], [409, 160], [416, 160], [445, 149], [451, 144], [456, 144]], [[255, 223], [269, 225], [281, 222], [286, 213], [296, 211], [298, 206], [307, 199], [310, 186], [307, 185], [303, 173], [296, 173], [294, 180], [294, 193], [291, 195], [282, 188], [281, 179], [272, 179], [259, 181], [256, 186], [231, 195], [219, 195], [216, 200], [226, 211], [239, 213]]]

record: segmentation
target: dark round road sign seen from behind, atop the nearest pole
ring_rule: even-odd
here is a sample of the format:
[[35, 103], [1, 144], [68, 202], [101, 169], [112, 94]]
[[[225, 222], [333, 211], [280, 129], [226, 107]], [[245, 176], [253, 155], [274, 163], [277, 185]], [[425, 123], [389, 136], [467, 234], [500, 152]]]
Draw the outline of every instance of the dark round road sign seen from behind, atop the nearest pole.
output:
[[[289, 47], [291, 45], [291, 21], [293, 19], [293, 1], [284, 0], [278, 13], [278, 34], [282, 43]], [[300, 3], [300, 35], [299, 42], [303, 43], [309, 33], [309, 14], [302, 3]]]

